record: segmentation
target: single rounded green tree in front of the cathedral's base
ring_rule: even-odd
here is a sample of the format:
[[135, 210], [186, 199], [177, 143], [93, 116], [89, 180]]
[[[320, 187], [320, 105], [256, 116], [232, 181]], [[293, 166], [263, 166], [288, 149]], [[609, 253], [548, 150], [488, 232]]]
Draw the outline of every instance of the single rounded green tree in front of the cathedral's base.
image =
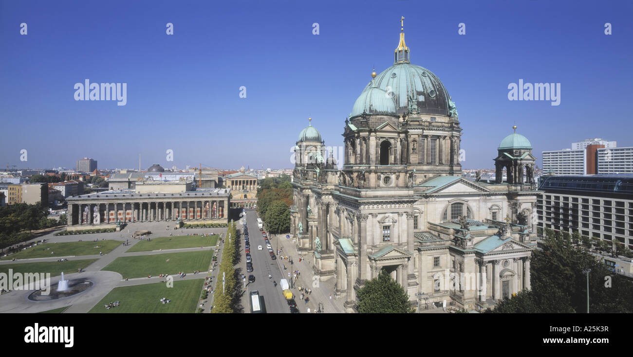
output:
[[411, 313], [413, 308], [404, 288], [382, 269], [377, 278], [358, 289], [360, 313]]

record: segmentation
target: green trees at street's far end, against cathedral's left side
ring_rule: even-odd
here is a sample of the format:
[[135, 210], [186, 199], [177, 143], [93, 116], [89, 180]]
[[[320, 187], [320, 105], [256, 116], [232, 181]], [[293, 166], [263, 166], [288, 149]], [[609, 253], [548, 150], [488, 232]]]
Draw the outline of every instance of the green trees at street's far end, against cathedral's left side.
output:
[[258, 215], [266, 223], [270, 233], [290, 231], [290, 206], [292, 205], [292, 184], [290, 176], [280, 175], [260, 181], [257, 191]]

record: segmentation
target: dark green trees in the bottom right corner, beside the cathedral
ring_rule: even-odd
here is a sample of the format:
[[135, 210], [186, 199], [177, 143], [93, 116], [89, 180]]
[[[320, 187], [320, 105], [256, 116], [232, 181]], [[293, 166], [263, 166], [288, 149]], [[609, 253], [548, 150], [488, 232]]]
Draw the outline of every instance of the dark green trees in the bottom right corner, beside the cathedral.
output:
[[548, 230], [541, 243], [541, 250], [532, 251], [532, 289], [502, 301], [492, 312], [587, 312], [589, 270], [590, 312], [633, 312], [633, 281], [612, 272], [586, 245], [574, 244], [571, 236]]

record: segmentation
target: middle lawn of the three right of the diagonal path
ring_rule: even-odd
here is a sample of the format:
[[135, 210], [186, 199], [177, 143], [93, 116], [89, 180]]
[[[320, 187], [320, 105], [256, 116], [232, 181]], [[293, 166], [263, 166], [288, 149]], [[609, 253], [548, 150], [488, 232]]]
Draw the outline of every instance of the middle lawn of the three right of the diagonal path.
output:
[[[189, 274], [194, 270], [206, 272], [212, 256], [213, 251], [203, 250], [119, 257], [101, 270], [117, 272], [124, 278], [156, 276], [163, 273], [176, 274], [177, 272]], [[166, 262], [168, 259], [169, 262]]]

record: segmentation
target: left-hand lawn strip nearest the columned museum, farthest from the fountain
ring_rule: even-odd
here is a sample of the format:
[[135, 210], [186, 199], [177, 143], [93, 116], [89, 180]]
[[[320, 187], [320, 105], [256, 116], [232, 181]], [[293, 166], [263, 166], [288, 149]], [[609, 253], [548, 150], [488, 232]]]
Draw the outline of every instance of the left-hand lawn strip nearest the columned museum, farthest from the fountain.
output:
[[[73, 255], [92, 255], [102, 253], [110, 253], [114, 248], [122, 242], [113, 239], [105, 241], [77, 241], [65, 243], [44, 243], [41, 245], [19, 251], [18, 253], [0, 258], [0, 260], [27, 259], [27, 258], [51, 258], [51, 257], [72, 257]], [[99, 248], [94, 248], [99, 246]], [[54, 253], [54, 254], [51, 254]]]

